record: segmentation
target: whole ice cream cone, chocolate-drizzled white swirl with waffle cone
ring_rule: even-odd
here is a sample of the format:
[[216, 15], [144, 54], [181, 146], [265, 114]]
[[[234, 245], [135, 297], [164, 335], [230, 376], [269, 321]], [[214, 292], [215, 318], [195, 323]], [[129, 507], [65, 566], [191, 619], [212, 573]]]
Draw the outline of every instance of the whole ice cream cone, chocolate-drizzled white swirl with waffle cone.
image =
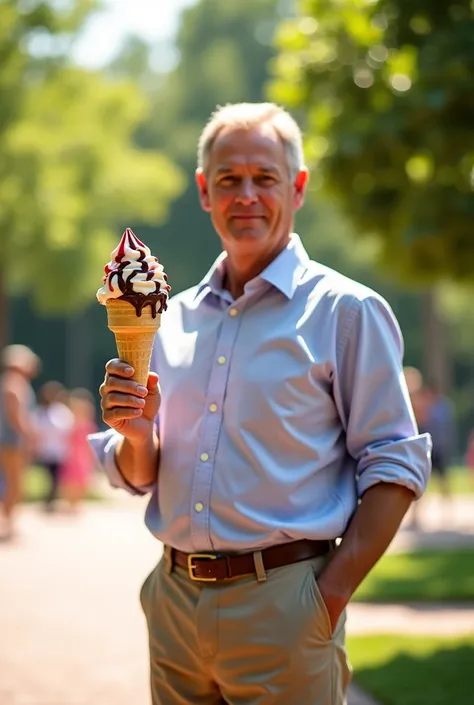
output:
[[166, 274], [130, 228], [122, 235], [104, 272], [97, 299], [107, 309], [119, 359], [131, 365], [133, 379], [146, 386], [155, 334], [168, 306]]

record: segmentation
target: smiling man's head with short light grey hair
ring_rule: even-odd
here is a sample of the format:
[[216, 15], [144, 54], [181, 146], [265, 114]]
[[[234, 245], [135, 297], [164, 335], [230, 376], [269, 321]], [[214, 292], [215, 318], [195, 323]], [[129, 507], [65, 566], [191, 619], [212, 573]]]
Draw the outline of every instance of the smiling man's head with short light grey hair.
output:
[[262, 258], [278, 252], [308, 180], [298, 125], [273, 103], [219, 108], [199, 139], [196, 180], [228, 252]]

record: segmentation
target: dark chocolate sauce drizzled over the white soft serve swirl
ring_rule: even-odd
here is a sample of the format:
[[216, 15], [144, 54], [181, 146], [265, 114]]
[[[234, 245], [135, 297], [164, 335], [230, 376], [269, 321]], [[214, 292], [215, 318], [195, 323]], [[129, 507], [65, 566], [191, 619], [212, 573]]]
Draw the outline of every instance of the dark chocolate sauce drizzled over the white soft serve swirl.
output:
[[[133, 270], [126, 279], [124, 279], [123, 276], [123, 270], [121, 269], [112, 269], [108, 265], [105, 267], [105, 277], [104, 277], [104, 282], [107, 280], [107, 277], [110, 275], [109, 278], [109, 289], [112, 291], [113, 286], [113, 278], [117, 278], [117, 284], [119, 286], [120, 291], [122, 292], [122, 296], [119, 296], [119, 299], [123, 299], [124, 301], [127, 301], [128, 303], [131, 303], [132, 306], [134, 306], [135, 311], [137, 313], [137, 316], [140, 317], [142, 315], [142, 311], [145, 308], [145, 306], [150, 306], [151, 308], [151, 315], [152, 318], [156, 318], [157, 314], [163, 313], [163, 311], [166, 311], [168, 308], [168, 292], [171, 290], [170, 285], [168, 284], [168, 277], [166, 274], [163, 272], [163, 278], [166, 282], [164, 285], [164, 288], [160, 288], [160, 282], [155, 282], [155, 291], [150, 294], [141, 294], [140, 292], [134, 291], [133, 289], [133, 279], [137, 274], [144, 274], [145, 272], [147, 273], [146, 275], [146, 281], [151, 281], [154, 276], [154, 271], [153, 269], [150, 269], [148, 262], [145, 262], [145, 245], [144, 243], [137, 238], [135, 233], [130, 229], [127, 228], [122, 235], [122, 239], [120, 241], [119, 249], [117, 252], [117, 255], [114, 259], [114, 262], [116, 262], [118, 265], [122, 262], [124, 256], [125, 256], [125, 247], [128, 245], [128, 247], [132, 250], [136, 250], [137, 252], [140, 252], [140, 255], [138, 257], [138, 262], [141, 263], [141, 269], [135, 269]], [[143, 250], [142, 250], [143, 248]], [[154, 257], [156, 260], [156, 263], [158, 264], [158, 259]]]

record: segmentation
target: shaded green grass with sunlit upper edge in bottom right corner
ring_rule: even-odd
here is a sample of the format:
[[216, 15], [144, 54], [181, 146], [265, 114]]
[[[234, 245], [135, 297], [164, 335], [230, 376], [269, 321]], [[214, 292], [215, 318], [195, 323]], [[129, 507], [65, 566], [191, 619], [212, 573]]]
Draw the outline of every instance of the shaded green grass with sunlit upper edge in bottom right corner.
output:
[[472, 705], [474, 636], [347, 641], [354, 680], [382, 705]]

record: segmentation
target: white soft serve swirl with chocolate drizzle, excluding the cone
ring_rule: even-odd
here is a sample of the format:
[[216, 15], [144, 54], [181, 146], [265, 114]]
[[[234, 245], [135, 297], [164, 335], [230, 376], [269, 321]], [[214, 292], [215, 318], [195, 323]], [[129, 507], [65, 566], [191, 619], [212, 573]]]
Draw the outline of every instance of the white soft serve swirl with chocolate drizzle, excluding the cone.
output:
[[171, 287], [163, 265], [130, 228], [125, 230], [104, 271], [103, 284], [97, 292], [99, 303], [126, 300], [134, 306], [137, 316], [149, 306], [153, 318], [166, 311]]

